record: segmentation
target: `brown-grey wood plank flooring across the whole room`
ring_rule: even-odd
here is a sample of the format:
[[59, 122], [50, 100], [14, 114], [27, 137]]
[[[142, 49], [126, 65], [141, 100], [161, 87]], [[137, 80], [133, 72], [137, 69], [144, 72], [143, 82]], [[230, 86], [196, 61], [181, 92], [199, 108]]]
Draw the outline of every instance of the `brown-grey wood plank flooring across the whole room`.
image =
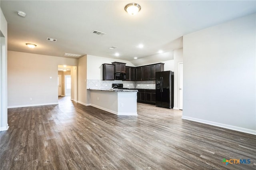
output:
[[[255, 170], [255, 135], [182, 120], [182, 111], [138, 103], [117, 116], [60, 97], [8, 109], [1, 170]], [[250, 164], [223, 164], [223, 158]]]

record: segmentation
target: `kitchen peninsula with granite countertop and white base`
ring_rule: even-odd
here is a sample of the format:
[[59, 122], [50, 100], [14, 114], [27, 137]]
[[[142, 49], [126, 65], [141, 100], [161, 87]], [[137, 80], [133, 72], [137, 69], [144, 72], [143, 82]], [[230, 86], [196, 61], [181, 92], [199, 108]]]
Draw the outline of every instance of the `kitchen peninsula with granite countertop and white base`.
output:
[[137, 115], [137, 92], [130, 89], [88, 89], [90, 105], [115, 115]]

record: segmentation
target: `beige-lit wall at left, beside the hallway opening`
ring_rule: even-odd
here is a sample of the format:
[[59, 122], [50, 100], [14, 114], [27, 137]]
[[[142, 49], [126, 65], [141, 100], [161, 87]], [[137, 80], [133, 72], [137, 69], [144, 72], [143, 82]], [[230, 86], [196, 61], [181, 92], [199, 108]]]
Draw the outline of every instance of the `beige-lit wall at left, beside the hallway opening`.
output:
[[77, 66], [77, 62], [72, 58], [8, 51], [8, 107], [57, 104], [58, 65]]

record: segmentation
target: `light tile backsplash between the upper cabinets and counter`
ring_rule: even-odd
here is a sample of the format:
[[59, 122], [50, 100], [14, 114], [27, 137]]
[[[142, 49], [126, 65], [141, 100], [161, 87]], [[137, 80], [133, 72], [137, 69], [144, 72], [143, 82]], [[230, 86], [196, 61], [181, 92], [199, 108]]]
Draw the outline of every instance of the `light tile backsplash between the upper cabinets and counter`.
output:
[[113, 83], [122, 83], [125, 88], [131, 89], [156, 89], [155, 81], [106, 81], [87, 79], [87, 89], [110, 89]]

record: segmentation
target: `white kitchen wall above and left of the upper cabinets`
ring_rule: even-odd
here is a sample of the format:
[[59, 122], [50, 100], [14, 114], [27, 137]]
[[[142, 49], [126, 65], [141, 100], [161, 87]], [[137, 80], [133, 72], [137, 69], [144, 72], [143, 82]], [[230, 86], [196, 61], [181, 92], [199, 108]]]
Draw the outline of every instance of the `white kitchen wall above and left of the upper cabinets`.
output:
[[111, 64], [115, 61], [120, 63], [126, 63], [126, 66], [134, 67], [134, 65], [130, 61], [87, 55], [87, 79], [102, 80], [102, 64]]

